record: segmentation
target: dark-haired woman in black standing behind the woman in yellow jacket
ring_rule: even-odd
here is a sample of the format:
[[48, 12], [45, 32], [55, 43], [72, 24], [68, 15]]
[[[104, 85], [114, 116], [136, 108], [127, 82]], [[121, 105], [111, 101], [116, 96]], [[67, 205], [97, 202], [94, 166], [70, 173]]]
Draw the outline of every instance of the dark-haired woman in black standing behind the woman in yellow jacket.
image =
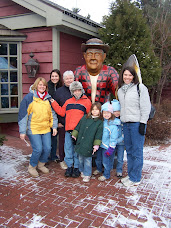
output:
[[[48, 92], [54, 98], [54, 94], [56, 90], [62, 86], [62, 79], [61, 79], [61, 73], [58, 69], [54, 69], [50, 73], [50, 80], [48, 81]], [[57, 135], [53, 136], [52, 135], [52, 146], [51, 146], [51, 153], [49, 160], [58, 162], [59, 158], [56, 155], [56, 150], [57, 150]]]

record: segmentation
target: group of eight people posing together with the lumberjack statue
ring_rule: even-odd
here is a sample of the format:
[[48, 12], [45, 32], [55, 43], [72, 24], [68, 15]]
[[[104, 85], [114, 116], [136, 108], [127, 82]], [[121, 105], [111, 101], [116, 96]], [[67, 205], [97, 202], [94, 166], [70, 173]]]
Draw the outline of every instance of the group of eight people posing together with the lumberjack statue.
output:
[[[45, 164], [53, 160], [66, 170], [65, 177], [81, 175], [89, 182], [96, 154], [93, 175], [105, 181], [110, 178], [117, 154], [117, 177], [124, 186], [138, 185], [151, 109], [148, 90], [139, 84], [133, 67], [124, 67], [118, 76], [113, 67], [103, 65], [109, 46], [101, 40], [92, 38], [81, 50], [86, 65], [75, 73], [64, 72], [63, 80], [57, 69], [50, 73], [48, 83], [37, 78], [20, 104], [20, 138], [24, 140], [27, 135], [33, 149], [28, 172], [33, 177], [39, 176], [37, 169], [49, 173]], [[119, 101], [109, 101], [117, 84]], [[125, 149], [128, 175], [122, 177]]]

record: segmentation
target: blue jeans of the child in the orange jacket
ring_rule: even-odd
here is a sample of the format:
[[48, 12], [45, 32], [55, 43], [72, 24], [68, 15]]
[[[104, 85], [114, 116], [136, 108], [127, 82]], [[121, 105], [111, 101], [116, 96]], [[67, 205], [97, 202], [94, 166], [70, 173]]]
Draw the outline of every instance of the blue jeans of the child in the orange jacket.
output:
[[65, 132], [64, 151], [65, 151], [64, 161], [66, 162], [67, 166], [72, 167], [74, 165], [74, 168], [78, 168], [79, 166], [78, 154], [74, 150], [71, 134], [67, 131]]

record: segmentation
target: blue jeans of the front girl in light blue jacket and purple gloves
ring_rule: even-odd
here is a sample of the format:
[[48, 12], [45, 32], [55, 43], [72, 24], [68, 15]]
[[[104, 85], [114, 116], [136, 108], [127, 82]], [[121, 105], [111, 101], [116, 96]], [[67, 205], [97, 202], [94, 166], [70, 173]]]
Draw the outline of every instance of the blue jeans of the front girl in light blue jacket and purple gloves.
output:
[[103, 176], [106, 177], [106, 179], [110, 178], [110, 171], [113, 169], [113, 162], [114, 162], [114, 156], [115, 153], [113, 153], [110, 157], [106, 157], [104, 155], [106, 149], [99, 148], [96, 158], [96, 166], [97, 170], [102, 173], [102, 168], [104, 167]]

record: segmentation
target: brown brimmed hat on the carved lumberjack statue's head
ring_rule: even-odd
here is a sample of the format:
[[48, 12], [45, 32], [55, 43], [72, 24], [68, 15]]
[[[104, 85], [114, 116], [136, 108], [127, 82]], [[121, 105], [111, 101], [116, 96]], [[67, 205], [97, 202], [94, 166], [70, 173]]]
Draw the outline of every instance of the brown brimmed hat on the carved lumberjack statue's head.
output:
[[109, 51], [109, 45], [104, 44], [102, 40], [98, 38], [91, 38], [86, 43], [81, 44], [81, 51], [86, 52], [88, 48], [102, 49], [105, 53]]

